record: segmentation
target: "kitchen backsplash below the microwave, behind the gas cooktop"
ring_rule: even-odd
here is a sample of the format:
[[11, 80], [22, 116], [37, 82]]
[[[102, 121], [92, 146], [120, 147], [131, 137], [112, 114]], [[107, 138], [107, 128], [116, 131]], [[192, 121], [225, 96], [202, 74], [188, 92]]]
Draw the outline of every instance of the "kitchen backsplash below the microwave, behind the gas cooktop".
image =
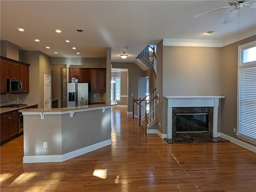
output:
[[5, 104], [23, 104], [28, 94], [10, 94], [0, 96], [0, 106]]

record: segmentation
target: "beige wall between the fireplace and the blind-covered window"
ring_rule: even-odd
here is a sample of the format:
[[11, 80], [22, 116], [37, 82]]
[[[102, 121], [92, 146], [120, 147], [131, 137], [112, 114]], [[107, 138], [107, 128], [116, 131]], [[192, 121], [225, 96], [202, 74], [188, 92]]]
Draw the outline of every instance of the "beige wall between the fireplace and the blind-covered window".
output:
[[222, 48], [222, 95], [225, 99], [221, 105], [221, 132], [234, 138], [233, 128], [237, 128], [238, 46], [254, 40], [256, 35]]

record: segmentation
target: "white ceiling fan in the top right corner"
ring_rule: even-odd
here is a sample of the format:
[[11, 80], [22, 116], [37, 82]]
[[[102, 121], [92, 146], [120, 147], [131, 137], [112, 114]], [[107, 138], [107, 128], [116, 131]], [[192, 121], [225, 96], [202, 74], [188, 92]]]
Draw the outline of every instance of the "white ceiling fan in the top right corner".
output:
[[255, 2], [256, 2], [256, 0], [234, 0], [234, 1], [228, 1], [228, 4], [230, 6], [225, 6], [225, 7], [214, 9], [214, 10], [211, 10], [211, 11], [208, 11], [208, 12], [205, 12], [205, 13], [201, 13], [201, 14], [195, 15], [194, 18], [200, 17], [200, 16], [202, 16], [204, 14], [207, 14], [207, 13], [211, 13], [211, 12], [215, 12], [215, 11], [218, 11], [218, 10], [234, 7], [234, 9], [232, 9], [229, 12], [228, 16], [226, 17], [226, 19], [223, 22], [223, 24], [227, 24], [227, 23], [230, 23], [230, 22], [232, 22], [234, 20], [234, 18], [236, 16], [236, 14], [238, 13], [238, 11], [240, 9], [244, 8], [244, 6], [247, 6], [249, 8], [256, 8], [256, 6], [255, 6], [256, 3]]

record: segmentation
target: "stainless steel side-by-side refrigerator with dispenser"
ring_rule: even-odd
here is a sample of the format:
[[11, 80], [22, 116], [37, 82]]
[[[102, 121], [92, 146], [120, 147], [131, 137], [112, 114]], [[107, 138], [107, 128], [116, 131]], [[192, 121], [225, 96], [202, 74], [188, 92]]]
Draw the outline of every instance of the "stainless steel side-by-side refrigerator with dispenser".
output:
[[88, 83], [67, 83], [67, 106], [74, 107], [88, 105], [88, 88]]

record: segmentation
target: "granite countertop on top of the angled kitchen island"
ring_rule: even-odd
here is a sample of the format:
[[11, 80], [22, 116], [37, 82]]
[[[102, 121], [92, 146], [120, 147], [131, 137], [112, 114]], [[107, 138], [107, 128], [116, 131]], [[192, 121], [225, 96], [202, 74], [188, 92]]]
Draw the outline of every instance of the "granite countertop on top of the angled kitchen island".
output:
[[22, 110], [19, 110], [19, 112], [64, 112], [64, 111], [72, 111], [72, 110], [107, 107], [107, 106], [114, 106], [114, 105], [117, 105], [116, 100], [108, 100], [105, 102], [105, 104], [76, 106], [76, 107], [64, 107], [64, 108], [48, 108], [48, 109], [44, 109], [44, 108], [22, 109]]

